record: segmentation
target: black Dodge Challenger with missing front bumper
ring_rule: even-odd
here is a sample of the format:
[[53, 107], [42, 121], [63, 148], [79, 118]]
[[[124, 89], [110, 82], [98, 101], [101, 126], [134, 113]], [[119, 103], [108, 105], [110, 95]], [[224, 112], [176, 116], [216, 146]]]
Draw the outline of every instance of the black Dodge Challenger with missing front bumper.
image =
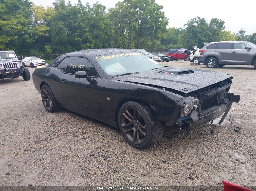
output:
[[38, 66], [33, 83], [49, 112], [66, 108], [119, 128], [133, 147], [157, 143], [164, 126], [191, 130], [221, 116], [240, 96], [232, 76], [163, 67], [130, 49], [67, 53]]

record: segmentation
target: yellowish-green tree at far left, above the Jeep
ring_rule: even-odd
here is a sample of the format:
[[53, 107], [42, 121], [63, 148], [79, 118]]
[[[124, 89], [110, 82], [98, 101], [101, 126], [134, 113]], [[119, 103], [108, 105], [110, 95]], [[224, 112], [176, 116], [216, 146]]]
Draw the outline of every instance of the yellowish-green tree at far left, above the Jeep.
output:
[[28, 0], [0, 0], [0, 49], [28, 50], [31, 36], [32, 11]]

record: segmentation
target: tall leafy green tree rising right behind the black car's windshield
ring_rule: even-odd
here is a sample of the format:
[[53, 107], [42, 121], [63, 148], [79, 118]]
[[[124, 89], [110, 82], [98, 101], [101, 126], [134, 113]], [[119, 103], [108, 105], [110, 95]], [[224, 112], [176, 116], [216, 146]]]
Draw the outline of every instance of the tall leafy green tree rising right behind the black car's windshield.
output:
[[[167, 31], [168, 21], [162, 8], [155, 0], [118, 2], [110, 9], [109, 16], [115, 24], [117, 47], [155, 50]], [[124, 43], [121, 43], [122, 38], [126, 38]]]

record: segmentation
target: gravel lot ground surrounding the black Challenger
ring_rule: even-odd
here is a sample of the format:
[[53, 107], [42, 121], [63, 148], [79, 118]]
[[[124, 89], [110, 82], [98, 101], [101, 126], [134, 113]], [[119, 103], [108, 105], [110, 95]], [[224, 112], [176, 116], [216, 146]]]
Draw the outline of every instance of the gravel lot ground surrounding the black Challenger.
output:
[[[208, 69], [171, 61], [163, 65]], [[32, 73], [35, 68], [28, 68]], [[119, 130], [68, 110], [48, 113], [32, 79], [0, 81], [0, 185], [256, 185], [256, 70], [213, 69], [234, 76], [233, 123], [165, 129], [153, 148], [136, 150]], [[232, 119], [232, 112], [230, 113]], [[240, 127], [240, 132], [234, 129]], [[253, 187], [255, 188], [255, 187]]]

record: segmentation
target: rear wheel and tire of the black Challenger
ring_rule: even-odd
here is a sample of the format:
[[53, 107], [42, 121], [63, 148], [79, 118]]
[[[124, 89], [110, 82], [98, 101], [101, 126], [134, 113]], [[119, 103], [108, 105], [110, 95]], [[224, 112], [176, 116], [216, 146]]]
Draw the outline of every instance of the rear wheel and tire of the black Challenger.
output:
[[55, 100], [51, 88], [46, 84], [41, 88], [41, 98], [43, 105], [48, 112], [52, 113], [61, 109], [58, 102]]

